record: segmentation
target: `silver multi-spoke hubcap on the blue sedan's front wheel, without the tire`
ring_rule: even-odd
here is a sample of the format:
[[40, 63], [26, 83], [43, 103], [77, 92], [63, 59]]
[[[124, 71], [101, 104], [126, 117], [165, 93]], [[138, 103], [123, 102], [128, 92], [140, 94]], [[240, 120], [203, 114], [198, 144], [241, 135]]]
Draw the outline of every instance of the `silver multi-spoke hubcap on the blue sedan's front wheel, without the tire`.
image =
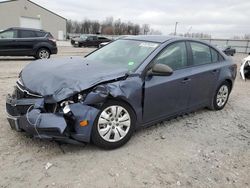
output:
[[108, 142], [123, 139], [131, 125], [128, 111], [122, 106], [109, 106], [102, 111], [98, 119], [98, 133]]

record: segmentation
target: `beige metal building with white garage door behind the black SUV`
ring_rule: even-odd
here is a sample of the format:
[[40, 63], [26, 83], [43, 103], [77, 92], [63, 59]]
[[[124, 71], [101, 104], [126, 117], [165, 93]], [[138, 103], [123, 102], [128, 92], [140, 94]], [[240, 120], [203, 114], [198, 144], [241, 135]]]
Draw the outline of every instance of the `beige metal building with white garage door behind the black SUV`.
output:
[[10, 27], [43, 29], [56, 39], [66, 38], [67, 19], [30, 1], [0, 2], [0, 30]]

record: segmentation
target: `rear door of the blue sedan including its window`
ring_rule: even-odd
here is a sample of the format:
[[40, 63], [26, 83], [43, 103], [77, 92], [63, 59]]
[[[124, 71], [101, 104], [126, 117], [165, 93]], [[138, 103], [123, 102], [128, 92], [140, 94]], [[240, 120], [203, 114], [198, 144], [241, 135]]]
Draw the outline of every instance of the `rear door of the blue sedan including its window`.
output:
[[189, 107], [195, 108], [210, 104], [220, 72], [219, 54], [210, 46], [189, 42], [192, 54], [191, 95]]

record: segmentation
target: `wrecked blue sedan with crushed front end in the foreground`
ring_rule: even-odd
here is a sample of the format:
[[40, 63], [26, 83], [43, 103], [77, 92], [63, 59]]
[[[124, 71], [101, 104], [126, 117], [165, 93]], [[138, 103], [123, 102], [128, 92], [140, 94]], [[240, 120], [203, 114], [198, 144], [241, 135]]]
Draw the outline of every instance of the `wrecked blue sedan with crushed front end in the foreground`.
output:
[[131, 36], [86, 57], [35, 61], [8, 95], [10, 126], [36, 138], [114, 149], [135, 129], [225, 107], [237, 66], [194, 39]]

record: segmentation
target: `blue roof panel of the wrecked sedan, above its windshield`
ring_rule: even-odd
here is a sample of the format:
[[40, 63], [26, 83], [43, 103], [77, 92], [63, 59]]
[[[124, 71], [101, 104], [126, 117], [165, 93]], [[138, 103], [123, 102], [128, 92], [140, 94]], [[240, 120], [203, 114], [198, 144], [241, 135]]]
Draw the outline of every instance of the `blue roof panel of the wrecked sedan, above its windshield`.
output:
[[164, 42], [166, 42], [168, 40], [179, 39], [179, 38], [183, 38], [183, 37], [164, 36], [164, 35], [133, 35], [133, 36], [127, 36], [127, 37], [125, 37], [123, 39], [164, 43]]

